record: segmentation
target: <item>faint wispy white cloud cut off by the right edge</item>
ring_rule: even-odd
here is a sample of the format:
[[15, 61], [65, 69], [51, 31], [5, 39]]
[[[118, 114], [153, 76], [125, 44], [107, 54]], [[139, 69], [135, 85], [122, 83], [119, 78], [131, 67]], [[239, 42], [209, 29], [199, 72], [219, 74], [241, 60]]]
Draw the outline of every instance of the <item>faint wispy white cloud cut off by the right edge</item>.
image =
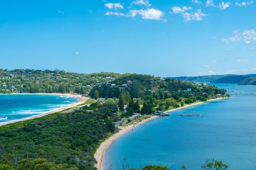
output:
[[246, 44], [250, 44], [252, 41], [256, 41], [256, 30], [244, 30], [240, 32], [239, 30], [234, 31], [234, 36], [223, 39], [227, 44], [231, 42], [243, 41]]

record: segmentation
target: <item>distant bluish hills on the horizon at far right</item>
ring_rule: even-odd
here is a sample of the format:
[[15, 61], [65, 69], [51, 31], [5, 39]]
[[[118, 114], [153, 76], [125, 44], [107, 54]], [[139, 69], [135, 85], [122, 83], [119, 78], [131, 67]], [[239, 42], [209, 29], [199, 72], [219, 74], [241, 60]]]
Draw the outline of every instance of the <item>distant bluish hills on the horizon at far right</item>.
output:
[[256, 85], [256, 74], [225, 74], [225, 75], [209, 75], [196, 77], [169, 77], [170, 79], [180, 79], [190, 82], [210, 82], [210, 83], [237, 83], [239, 85]]

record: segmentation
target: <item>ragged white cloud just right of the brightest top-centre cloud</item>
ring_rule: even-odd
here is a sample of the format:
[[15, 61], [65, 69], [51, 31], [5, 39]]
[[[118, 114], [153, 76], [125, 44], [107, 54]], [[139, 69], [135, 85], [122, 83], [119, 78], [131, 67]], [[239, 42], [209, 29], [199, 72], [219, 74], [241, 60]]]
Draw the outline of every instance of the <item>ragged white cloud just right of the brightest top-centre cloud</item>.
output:
[[174, 6], [171, 8], [173, 14], [182, 14], [184, 22], [188, 22], [190, 20], [201, 21], [206, 14], [202, 13], [201, 9], [197, 10], [195, 13], [188, 13], [186, 11], [192, 10], [191, 7], [184, 6], [182, 8], [178, 6]]

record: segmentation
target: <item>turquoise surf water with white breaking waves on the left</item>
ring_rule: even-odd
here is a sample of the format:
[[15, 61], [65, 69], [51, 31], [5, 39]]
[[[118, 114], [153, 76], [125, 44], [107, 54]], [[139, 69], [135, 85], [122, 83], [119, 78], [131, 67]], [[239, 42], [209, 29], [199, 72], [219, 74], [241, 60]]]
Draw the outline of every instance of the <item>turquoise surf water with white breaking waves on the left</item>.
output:
[[0, 124], [67, 107], [77, 100], [61, 95], [0, 95]]

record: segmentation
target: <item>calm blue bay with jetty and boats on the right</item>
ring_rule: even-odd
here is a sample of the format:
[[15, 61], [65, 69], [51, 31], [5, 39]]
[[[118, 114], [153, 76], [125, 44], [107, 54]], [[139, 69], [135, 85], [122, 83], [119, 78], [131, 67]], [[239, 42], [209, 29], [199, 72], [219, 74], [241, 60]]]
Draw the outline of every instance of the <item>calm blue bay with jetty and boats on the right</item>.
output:
[[205, 118], [169, 116], [138, 126], [110, 145], [104, 168], [121, 170], [126, 157], [130, 168], [154, 164], [201, 170], [206, 159], [216, 158], [230, 170], [256, 170], [256, 86], [216, 85], [233, 98], [171, 112]]

